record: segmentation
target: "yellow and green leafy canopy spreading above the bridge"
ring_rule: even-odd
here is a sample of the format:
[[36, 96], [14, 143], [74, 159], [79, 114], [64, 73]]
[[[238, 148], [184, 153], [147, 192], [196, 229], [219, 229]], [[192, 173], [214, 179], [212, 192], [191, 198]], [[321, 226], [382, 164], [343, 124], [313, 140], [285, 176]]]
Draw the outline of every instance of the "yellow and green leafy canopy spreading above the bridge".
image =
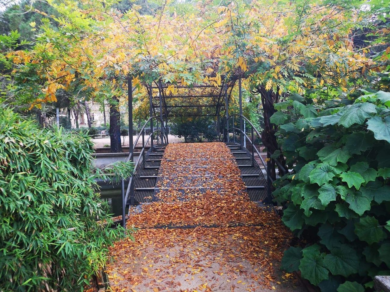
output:
[[[44, 17], [29, 23], [31, 49], [16, 32], [1, 41], [13, 95], [30, 109], [55, 102], [60, 89], [126, 99], [128, 75], [140, 91], [140, 83], [158, 79], [219, 84], [220, 76], [242, 74], [254, 91], [282, 95], [332, 84], [350, 92], [375, 79], [390, 50], [380, 1], [167, 1], [150, 14], [138, 4], [119, 11], [116, 1], [47, 4], [55, 13], [32, 5]], [[370, 29], [375, 59], [364, 40], [355, 44]]]

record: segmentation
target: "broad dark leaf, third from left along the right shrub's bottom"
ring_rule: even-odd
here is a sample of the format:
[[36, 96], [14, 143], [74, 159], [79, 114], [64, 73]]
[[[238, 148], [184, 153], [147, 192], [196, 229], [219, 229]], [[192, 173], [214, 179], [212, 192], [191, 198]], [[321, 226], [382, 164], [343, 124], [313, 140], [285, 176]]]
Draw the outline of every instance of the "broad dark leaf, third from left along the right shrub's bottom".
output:
[[359, 258], [356, 251], [346, 245], [335, 247], [324, 258], [326, 268], [333, 275], [347, 277], [358, 272]]

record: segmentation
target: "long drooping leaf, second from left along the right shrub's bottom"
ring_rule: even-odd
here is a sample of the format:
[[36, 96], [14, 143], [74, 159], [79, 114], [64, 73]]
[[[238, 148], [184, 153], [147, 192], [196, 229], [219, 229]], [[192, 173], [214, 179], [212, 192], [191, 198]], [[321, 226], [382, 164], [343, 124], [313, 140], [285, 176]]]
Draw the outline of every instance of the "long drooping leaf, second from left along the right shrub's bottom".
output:
[[328, 279], [329, 271], [324, 266], [323, 254], [319, 252], [319, 246], [310, 246], [302, 250], [303, 258], [299, 269], [302, 278], [318, 285], [321, 281]]

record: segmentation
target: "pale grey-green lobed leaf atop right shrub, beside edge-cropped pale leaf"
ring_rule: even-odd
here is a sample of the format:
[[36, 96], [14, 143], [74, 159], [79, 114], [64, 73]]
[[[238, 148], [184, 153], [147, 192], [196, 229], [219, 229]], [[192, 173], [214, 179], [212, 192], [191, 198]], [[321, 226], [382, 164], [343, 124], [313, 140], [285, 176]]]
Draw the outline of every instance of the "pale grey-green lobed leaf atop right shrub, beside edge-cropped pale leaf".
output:
[[370, 103], [358, 103], [343, 107], [339, 113], [342, 114], [339, 125], [346, 128], [353, 124], [363, 125], [367, 118], [376, 113], [376, 105]]

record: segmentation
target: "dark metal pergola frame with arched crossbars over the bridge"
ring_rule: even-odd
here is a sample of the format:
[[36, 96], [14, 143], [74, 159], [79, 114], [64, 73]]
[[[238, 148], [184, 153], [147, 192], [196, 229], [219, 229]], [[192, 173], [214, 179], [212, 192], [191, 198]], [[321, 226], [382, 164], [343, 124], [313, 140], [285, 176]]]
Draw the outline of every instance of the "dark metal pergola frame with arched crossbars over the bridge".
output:
[[[216, 76], [207, 76], [213, 78]], [[232, 90], [238, 81], [239, 90], [239, 114], [240, 114], [240, 129], [244, 130], [242, 118], [242, 91], [241, 91], [241, 76], [233, 75], [229, 79], [226, 76], [221, 76], [221, 84], [192, 84], [181, 85], [162, 83], [161, 80], [154, 82], [154, 84], [147, 84], [147, 92], [149, 95], [149, 115], [151, 129], [154, 128], [152, 117], [160, 117], [156, 122], [156, 127], [161, 129], [161, 135], [167, 136], [167, 124], [169, 118], [176, 117], [215, 117], [217, 119], [217, 132], [221, 130], [221, 113], [225, 120], [225, 127], [223, 132], [223, 140], [229, 142], [229, 101]], [[133, 132], [133, 88], [132, 78], [128, 78], [128, 106], [129, 106], [129, 133]], [[172, 88], [177, 92], [173, 92]], [[241, 137], [242, 135], [240, 135]], [[244, 137], [240, 138], [241, 140]], [[130, 149], [133, 148], [133, 137], [129, 137]], [[243, 141], [240, 141], [243, 142]], [[241, 143], [242, 144], [242, 143]], [[153, 139], [151, 139], [151, 146], [153, 146]]]

